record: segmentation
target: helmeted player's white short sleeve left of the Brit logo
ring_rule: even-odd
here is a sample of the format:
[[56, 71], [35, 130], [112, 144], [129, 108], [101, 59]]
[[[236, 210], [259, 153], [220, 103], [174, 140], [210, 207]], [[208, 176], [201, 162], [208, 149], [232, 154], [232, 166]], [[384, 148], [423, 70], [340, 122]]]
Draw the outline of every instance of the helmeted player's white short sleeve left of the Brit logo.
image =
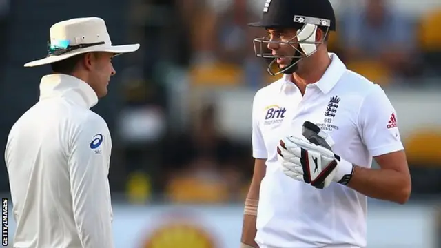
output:
[[260, 132], [260, 127], [258, 123], [258, 93], [254, 96], [253, 107], [252, 107], [252, 147], [253, 147], [253, 157], [266, 159], [268, 156], [267, 147], [263, 141], [262, 132]]

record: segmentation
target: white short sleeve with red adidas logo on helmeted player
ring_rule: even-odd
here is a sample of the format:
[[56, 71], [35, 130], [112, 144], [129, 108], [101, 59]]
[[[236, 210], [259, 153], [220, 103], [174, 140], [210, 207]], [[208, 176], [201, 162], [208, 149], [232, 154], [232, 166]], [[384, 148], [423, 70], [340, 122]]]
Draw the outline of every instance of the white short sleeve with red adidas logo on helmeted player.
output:
[[375, 85], [360, 106], [358, 128], [371, 156], [380, 156], [404, 149], [398, 117], [391, 101], [379, 85]]

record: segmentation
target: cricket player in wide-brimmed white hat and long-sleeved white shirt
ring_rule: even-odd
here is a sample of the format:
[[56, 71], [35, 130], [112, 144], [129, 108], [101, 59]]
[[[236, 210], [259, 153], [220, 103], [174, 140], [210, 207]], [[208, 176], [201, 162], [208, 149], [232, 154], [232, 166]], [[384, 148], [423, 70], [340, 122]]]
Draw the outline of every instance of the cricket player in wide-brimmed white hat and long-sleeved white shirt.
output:
[[107, 94], [112, 57], [139, 45], [112, 45], [103, 19], [52, 25], [48, 56], [25, 67], [52, 66], [39, 101], [13, 125], [5, 152], [17, 248], [112, 248], [107, 175], [112, 141], [90, 110]]

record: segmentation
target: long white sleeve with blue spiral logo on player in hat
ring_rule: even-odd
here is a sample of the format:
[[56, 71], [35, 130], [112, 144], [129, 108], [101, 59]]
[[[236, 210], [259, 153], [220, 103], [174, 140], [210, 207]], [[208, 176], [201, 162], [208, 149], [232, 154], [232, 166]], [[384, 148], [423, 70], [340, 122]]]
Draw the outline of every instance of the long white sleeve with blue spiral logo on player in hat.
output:
[[83, 248], [113, 248], [107, 179], [110, 134], [102, 118], [92, 117], [76, 130], [71, 143], [68, 167], [74, 219]]

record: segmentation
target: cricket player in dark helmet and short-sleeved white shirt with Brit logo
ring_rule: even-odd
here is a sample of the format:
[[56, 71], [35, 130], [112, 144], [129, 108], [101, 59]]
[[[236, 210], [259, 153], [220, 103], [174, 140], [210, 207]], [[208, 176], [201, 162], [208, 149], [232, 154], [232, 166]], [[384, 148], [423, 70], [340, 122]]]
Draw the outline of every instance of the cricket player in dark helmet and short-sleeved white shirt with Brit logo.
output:
[[267, 0], [250, 25], [267, 30], [256, 55], [283, 78], [254, 97], [242, 247], [366, 247], [367, 197], [404, 204], [411, 192], [396, 111], [327, 51], [328, 0]]

